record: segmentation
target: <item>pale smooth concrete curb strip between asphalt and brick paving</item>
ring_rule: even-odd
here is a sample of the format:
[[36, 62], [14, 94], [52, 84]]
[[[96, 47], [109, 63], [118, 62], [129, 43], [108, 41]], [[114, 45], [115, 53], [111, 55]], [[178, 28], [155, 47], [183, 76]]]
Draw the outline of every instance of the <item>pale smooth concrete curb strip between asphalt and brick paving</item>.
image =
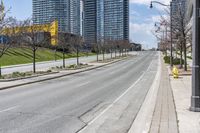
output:
[[148, 133], [151, 126], [153, 112], [156, 105], [157, 93], [160, 86], [161, 77], [161, 54], [159, 53], [159, 67], [153, 84], [149, 89], [146, 98], [137, 113], [137, 116], [128, 133]]

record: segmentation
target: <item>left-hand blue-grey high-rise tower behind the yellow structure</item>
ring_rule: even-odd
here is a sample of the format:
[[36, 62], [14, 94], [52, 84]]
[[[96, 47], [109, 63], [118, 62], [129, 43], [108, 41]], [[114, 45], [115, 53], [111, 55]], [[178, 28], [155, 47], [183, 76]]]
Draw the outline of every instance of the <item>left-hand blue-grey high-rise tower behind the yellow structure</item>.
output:
[[58, 20], [59, 31], [80, 34], [80, 0], [33, 0], [33, 23]]

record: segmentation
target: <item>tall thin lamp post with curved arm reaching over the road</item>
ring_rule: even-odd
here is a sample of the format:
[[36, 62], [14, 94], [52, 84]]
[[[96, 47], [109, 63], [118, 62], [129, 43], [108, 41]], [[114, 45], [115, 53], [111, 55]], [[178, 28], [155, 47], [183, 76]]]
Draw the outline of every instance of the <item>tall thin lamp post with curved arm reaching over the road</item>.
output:
[[172, 2], [170, 2], [170, 5], [166, 5], [163, 4], [161, 2], [158, 1], [151, 1], [150, 3], [150, 8], [153, 8], [153, 3], [162, 5], [162, 6], [166, 6], [166, 7], [170, 7], [170, 40], [171, 40], [171, 45], [170, 45], [170, 65], [171, 67], [173, 67], [173, 43], [172, 43]]

